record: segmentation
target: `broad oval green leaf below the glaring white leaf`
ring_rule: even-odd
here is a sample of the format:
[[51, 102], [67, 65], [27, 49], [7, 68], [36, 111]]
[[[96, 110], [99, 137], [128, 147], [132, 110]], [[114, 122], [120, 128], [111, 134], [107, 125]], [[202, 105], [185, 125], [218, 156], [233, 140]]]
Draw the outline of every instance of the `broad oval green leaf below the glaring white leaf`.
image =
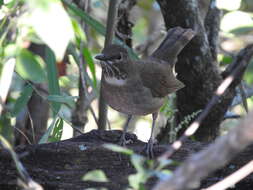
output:
[[42, 83], [46, 74], [39, 63], [38, 56], [27, 49], [21, 49], [17, 56], [16, 71], [24, 79]]

